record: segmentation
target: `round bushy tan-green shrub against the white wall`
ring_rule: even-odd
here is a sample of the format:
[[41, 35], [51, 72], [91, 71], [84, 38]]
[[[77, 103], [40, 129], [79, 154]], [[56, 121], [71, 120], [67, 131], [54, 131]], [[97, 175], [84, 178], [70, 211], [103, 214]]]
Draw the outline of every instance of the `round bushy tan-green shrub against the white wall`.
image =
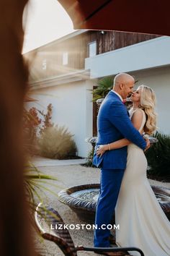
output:
[[38, 148], [40, 155], [53, 159], [66, 159], [76, 155], [73, 135], [66, 127], [47, 127], [40, 135]]

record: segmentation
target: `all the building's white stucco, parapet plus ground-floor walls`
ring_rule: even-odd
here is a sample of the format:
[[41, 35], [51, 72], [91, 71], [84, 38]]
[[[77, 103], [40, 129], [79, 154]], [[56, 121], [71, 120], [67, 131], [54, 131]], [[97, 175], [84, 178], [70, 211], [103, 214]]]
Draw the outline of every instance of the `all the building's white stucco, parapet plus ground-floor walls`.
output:
[[28, 107], [46, 110], [52, 103], [52, 121], [68, 127], [74, 135], [79, 156], [86, 157], [91, 149], [85, 142], [92, 136], [92, 95], [89, 90], [97, 84], [95, 80], [119, 72], [132, 74], [138, 80], [137, 85], [146, 84], [155, 90], [158, 130], [170, 135], [170, 37], [100, 54], [86, 59], [85, 64], [86, 71], [35, 82], [32, 97], [38, 102], [28, 104]]

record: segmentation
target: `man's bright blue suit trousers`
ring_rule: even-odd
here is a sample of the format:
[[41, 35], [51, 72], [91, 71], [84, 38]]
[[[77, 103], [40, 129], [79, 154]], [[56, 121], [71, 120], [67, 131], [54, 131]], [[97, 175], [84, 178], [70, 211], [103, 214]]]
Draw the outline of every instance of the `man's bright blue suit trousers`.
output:
[[100, 194], [97, 202], [94, 230], [94, 247], [109, 247], [110, 230], [107, 225], [111, 223], [112, 216], [120, 192], [123, 169], [101, 169]]

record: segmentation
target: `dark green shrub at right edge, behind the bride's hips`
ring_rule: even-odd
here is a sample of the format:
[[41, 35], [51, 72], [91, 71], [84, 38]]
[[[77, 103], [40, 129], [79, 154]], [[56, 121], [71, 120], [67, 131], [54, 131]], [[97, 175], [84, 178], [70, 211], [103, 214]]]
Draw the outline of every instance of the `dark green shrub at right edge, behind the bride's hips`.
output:
[[146, 151], [146, 158], [148, 160], [148, 174], [156, 176], [170, 175], [170, 136], [162, 135], [156, 132], [158, 142], [154, 143], [151, 148]]

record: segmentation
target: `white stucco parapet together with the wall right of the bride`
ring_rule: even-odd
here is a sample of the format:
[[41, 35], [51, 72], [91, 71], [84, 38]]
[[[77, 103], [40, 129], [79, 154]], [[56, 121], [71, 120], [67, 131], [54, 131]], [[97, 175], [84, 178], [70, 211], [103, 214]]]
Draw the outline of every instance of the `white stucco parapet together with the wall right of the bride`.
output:
[[162, 36], [110, 51], [85, 62], [90, 77], [100, 78], [128, 72], [156, 92], [158, 130], [170, 135], [170, 37]]

